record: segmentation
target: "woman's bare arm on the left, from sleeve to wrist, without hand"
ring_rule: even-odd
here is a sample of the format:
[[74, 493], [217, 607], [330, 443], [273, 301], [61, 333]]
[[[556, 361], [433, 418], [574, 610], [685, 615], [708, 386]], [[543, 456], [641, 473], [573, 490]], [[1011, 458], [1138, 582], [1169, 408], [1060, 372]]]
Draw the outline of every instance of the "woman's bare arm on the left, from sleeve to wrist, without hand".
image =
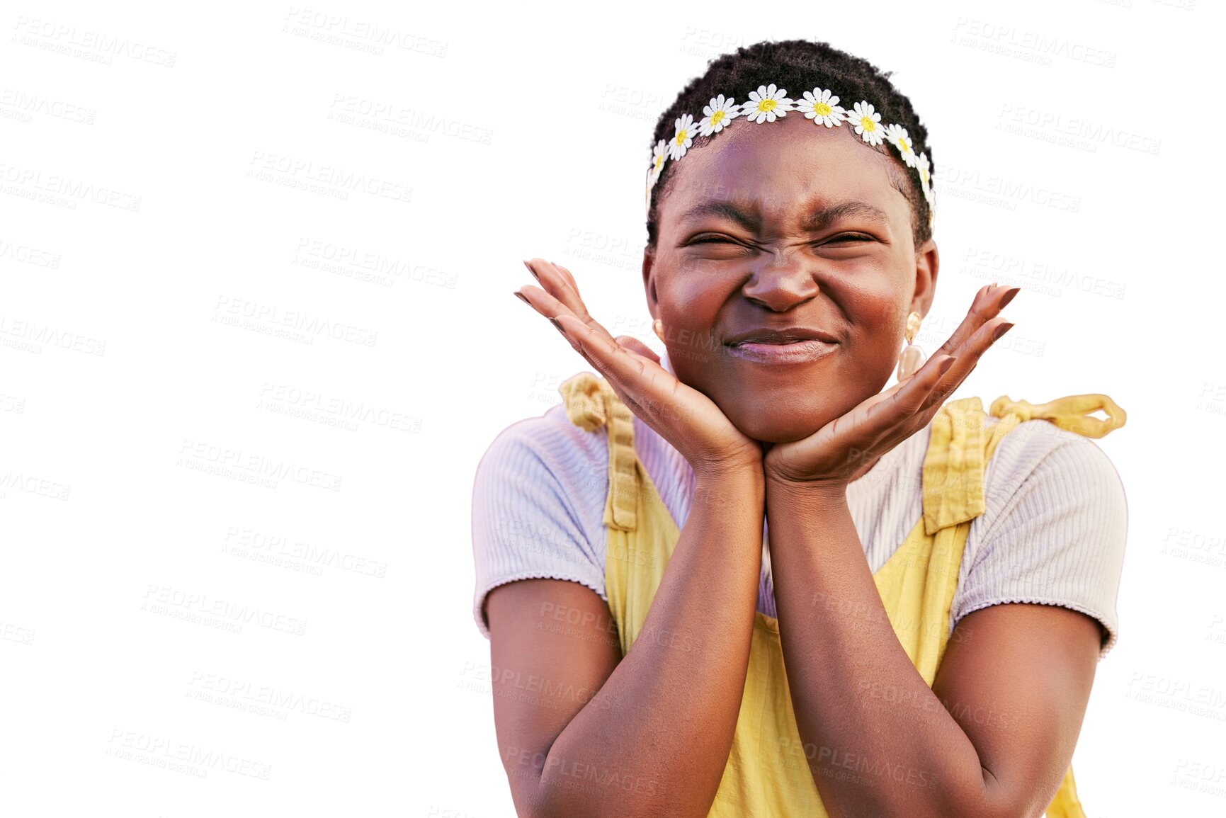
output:
[[744, 689], [764, 492], [756, 464], [698, 477], [642, 634], [620, 661], [592, 590], [524, 580], [490, 592], [494, 721], [519, 814], [707, 814]]

